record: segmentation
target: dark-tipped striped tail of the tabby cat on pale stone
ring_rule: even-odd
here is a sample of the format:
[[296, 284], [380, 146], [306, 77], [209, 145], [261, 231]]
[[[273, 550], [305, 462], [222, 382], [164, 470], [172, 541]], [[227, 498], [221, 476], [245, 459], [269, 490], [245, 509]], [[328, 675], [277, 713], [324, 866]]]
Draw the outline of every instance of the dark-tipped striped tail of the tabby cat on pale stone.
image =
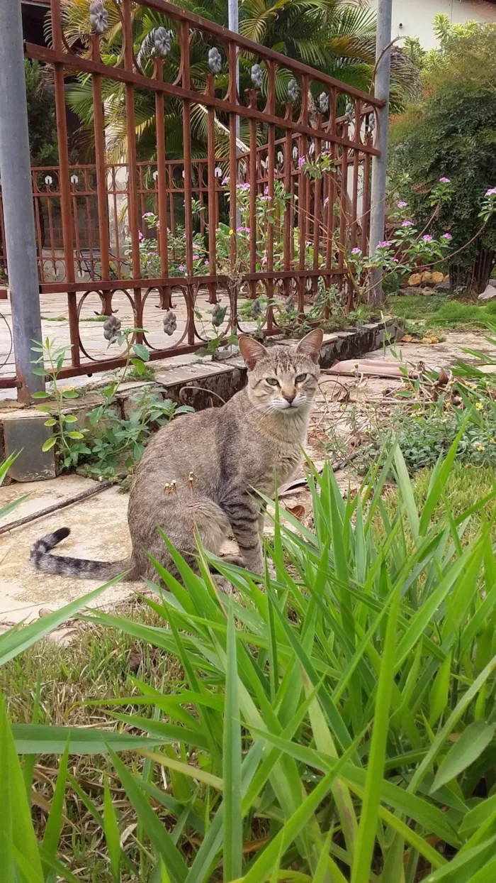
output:
[[[65, 540], [70, 534], [68, 527], [60, 527], [58, 531], [47, 533], [37, 540], [31, 550], [31, 561], [38, 570], [45, 573], [56, 573], [61, 577], [79, 577], [81, 579], [112, 579], [125, 571], [132, 570], [132, 558], [123, 561], [89, 561], [85, 558], [70, 558], [62, 555], [50, 555], [51, 549]], [[134, 575], [133, 575], [134, 576]], [[127, 579], [132, 578], [128, 573]]]

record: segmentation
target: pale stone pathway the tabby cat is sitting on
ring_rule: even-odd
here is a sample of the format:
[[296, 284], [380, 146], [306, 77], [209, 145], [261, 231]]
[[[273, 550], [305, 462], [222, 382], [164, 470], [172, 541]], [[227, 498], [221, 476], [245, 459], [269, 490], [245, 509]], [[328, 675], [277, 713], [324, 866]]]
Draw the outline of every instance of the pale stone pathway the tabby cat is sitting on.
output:
[[[421, 343], [396, 344], [396, 351], [414, 365], [423, 361], [429, 367], [453, 365], [458, 358], [466, 358], [462, 348], [491, 351], [485, 336], [477, 332], [456, 332], [448, 334], [443, 343], [426, 346]], [[374, 351], [364, 358], [391, 358], [391, 352]], [[344, 443], [352, 438], [353, 425], [369, 419], [368, 406], [381, 401], [383, 390], [397, 389], [402, 381], [378, 378], [336, 378], [322, 374], [321, 392], [315, 400], [308, 434], [307, 451], [321, 468], [325, 458], [331, 462], [336, 458], [331, 449], [324, 449], [322, 442], [328, 440], [329, 428], [333, 427]], [[339, 399], [346, 396], [347, 404]], [[355, 407], [351, 409], [350, 405]], [[351, 417], [353, 410], [354, 416]], [[337, 472], [339, 487], [345, 491], [348, 486], [356, 487], [357, 479], [350, 471]], [[93, 481], [78, 475], [59, 477], [50, 481], [21, 485], [12, 484], [0, 488], [0, 506], [28, 494], [18, 509], [0, 521], [0, 526], [11, 523], [38, 509], [44, 509], [56, 502], [91, 487]], [[284, 497], [285, 507], [303, 506], [303, 518], [311, 516], [310, 495], [305, 488], [298, 489]], [[118, 560], [129, 555], [130, 538], [127, 525], [128, 495], [121, 494], [117, 487], [111, 487], [90, 499], [42, 517], [12, 532], [0, 535], [0, 623], [19, 623], [21, 620], [36, 618], [42, 608], [56, 609], [78, 598], [96, 587], [98, 581], [77, 580], [70, 577], [56, 577], [35, 571], [29, 562], [29, 551], [34, 540], [57, 527], [68, 525], [71, 535], [63, 541], [61, 554], [102, 559]], [[270, 524], [267, 525], [270, 532]], [[100, 606], [111, 608], [117, 602], [140, 591], [141, 585], [122, 583], [115, 585], [100, 599]]]

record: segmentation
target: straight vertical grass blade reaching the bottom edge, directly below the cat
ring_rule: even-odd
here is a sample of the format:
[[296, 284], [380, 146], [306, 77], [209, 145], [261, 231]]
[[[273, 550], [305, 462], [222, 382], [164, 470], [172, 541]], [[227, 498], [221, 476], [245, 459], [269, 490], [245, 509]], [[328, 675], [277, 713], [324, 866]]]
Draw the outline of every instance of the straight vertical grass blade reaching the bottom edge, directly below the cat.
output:
[[238, 662], [233, 606], [227, 621], [226, 711], [222, 775], [224, 780], [224, 883], [241, 876], [243, 830], [241, 819], [241, 724], [238, 699]]

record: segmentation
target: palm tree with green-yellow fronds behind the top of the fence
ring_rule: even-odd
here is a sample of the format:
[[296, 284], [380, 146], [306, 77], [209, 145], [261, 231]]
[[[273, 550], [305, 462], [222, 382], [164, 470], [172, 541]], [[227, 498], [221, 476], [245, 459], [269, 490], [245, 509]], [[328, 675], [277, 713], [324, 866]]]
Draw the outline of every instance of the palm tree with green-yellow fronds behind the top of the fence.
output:
[[[227, 26], [226, 0], [178, 0], [178, 7], [194, 11], [205, 19]], [[120, 19], [115, 4], [107, 4], [110, 27], [101, 41], [102, 58], [112, 64], [122, 47]], [[69, 42], [88, 43], [90, 33], [88, 0], [66, 0], [63, 4], [63, 26]], [[137, 6], [133, 36], [136, 54], [142, 42], [158, 26], [173, 28], [174, 23], [158, 11]], [[317, 70], [340, 79], [342, 82], [364, 91], [370, 87], [374, 71], [375, 13], [362, 4], [347, 4], [344, 0], [241, 0], [241, 34], [263, 46], [275, 49], [287, 57], [312, 65]], [[190, 45], [191, 79], [200, 91], [204, 88], [208, 72], [207, 55], [212, 42], [206, 42], [206, 34], [196, 32]], [[250, 69], [253, 57], [240, 58], [241, 94], [251, 87]], [[173, 81], [179, 71], [180, 53], [177, 42], [172, 47], [164, 65], [164, 77]], [[151, 72], [152, 63], [144, 61], [144, 72]], [[393, 52], [392, 94], [393, 109], [400, 109], [406, 92], [415, 86], [418, 69], [400, 49]], [[278, 71], [276, 97], [280, 105], [287, 100], [287, 84], [292, 79], [289, 71]], [[216, 87], [225, 92], [227, 85], [226, 67], [216, 78]], [[262, 99], [264, 83], [261, 89]], [[112, 80], [103, 84], [106, 102], [107, 124], [112, 132], [109, 145], [109, 159], [117, 160], [125, 154], [125, 115], [123, 87]], [[82, 122], [82, 130], [92, 140], [93, 100], [90, 78], [79, 75], [78, 81], [70, 86], [67, 94], [70, 108]], [[152, 160], [155, 151], [155, 106], [152, 93], [135, 90], [136, 132], [138, 157]], [[344, 108], [343, 108], [344, 110]], [[181, 102], [167, 98], [167, 155], [181, 158], [182, 129]], [[228, 134], [218, 120], [218, 155], [226, 155]], [[196, 105], [192, 109], [192, 153], [205, 154], [207, 118], [204, 108]], [[260, 132], [263, 140], [263, 132]], [[248, 123], [241, 119], [241, 140], [248, 142]]]

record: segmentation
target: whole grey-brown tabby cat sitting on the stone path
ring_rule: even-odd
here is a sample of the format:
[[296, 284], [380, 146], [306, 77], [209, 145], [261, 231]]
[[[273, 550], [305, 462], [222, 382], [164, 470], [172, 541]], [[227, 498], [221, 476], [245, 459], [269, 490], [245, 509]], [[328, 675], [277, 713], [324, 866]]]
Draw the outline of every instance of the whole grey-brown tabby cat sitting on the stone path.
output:
[[130, 558], [107, 563], [50, 555], [70, 533], [63, 527], [34, 544], [34, 565], [71, 577], [110, 579], [128, 571], [127, 579], [153, 578], [149, 553], [174, 573], [160, 525], [193, 564], [195, 530], [218, 554], [231, 529], [244, 565], [261, 573], [263, 507], [256, 492], [273, 497], [276, 479], [282, 484], [300, 467], [321, 347], [320, 329], [297, 346], [269, 349], [241, 337], [248, 385], [222, 408], [163, 426], [145, 450], [130, 490]]

